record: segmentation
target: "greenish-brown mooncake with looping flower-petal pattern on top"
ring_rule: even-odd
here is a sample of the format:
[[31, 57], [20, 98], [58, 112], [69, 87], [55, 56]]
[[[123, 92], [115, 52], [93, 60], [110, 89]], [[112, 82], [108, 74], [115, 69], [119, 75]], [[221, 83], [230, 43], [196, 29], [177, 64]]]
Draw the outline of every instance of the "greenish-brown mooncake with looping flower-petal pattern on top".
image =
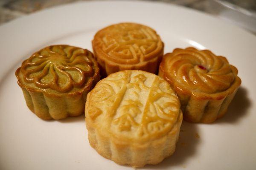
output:
[[87, 93], [100, 77], [93, 54], [69, 45], [35, 52], [15, 75], [29, 109], [46, 120], [84, 113]]

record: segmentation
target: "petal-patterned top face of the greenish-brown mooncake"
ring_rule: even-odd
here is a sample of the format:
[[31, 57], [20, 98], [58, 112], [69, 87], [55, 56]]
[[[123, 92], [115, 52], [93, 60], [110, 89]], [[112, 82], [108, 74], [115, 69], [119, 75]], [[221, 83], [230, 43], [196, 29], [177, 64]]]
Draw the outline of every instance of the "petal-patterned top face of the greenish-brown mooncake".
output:
[[68, 45], [46, 47], [23, 62], [20, 71], [26, 83], [41, 89], [69, 92], [84, 88], [95, 74], [90, 51]]

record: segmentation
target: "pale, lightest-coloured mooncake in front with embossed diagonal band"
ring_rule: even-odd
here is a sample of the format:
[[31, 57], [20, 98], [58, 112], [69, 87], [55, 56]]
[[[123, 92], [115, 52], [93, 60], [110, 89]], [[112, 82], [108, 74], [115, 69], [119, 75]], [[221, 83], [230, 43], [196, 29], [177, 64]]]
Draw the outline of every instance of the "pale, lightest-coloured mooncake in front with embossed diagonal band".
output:
[[87, 95], [90, 145], [118, 164], [158, 164], [175, 151], [182, 112], [169, 83], [145, 71], [126, 70], [99, 81]]

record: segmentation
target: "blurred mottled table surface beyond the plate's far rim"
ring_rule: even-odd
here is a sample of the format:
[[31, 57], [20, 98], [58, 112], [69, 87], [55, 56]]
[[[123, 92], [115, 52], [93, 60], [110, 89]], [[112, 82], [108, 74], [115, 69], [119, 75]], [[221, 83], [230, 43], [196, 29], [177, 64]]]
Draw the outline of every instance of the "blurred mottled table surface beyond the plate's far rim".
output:
[[[58, 6], [67, 3], [73, 3], [77, 1], [89, 1], [89, 0], [0, 0], [0, 25], [7, 23], [15, 18], [31, 14], [35, 11], [39, 11], [45, 8]], [[92, 1], [92, 0], [90, 0]], [[208, 14], [215, 15], [227, 22], [240, 26], [242, 28], [251, 31], [256, 34], [256, 0], [225, 0], [232, 4], [238, 5], [249, 11], [253, 11], [254, 18], [241, 19], [240, 14], [231, 11], [231, 14], [224, 14], [223, 17], [221, 10], [223, 6], [218, 3], [221, 0], [148, 0], [159, 1], [166, 4], [175, 4], [184, 6], [187, 8], [203, 11]], [[237, 10], [237, 7], [233, 9]], [[244, 11], [243, 9], [241, 11]], [[228, 11], [230, 12], [230, 11]], [[231, 17], [231, 18], [230, 18]], [[232, 18], [233, 17], [233, 18]], [[242, 16], [244, 17], [244, 16]]]

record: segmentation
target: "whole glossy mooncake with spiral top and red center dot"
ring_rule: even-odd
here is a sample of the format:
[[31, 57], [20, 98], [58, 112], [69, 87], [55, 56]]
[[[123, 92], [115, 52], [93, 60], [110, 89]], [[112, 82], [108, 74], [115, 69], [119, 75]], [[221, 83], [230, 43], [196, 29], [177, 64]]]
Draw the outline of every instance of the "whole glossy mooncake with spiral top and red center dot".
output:
[[238, 70], [209, 50], [176, 48], [165, 54], [159, 75], [176, 91], [189, 122], [210, 123], [222, 117], [241, 84]]

